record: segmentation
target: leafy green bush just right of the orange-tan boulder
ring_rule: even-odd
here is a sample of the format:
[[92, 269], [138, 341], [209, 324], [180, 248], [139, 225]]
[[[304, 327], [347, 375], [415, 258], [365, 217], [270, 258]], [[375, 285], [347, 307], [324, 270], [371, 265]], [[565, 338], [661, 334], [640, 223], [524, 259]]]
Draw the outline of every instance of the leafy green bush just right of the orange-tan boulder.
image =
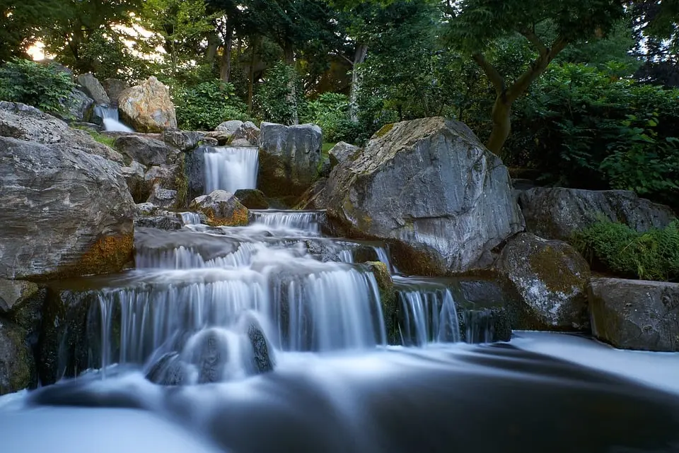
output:
[[182, 129], [211, 131], [229, 119], [249, 119], [245, 103], [236, 96], [230, 83], [209, 81], [191, 88], [176, 88], [173, 100]]

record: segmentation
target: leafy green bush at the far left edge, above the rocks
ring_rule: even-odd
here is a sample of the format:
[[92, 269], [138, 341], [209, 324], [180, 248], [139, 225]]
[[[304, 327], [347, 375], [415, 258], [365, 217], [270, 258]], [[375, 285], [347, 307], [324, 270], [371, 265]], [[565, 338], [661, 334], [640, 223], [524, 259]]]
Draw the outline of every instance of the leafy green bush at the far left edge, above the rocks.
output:
[[22, 102], [58, 114], [64, 112], [62, 101], [74, 87], [69, 73], [54, 64], [13, 59], [0, 67], [0, 100]]

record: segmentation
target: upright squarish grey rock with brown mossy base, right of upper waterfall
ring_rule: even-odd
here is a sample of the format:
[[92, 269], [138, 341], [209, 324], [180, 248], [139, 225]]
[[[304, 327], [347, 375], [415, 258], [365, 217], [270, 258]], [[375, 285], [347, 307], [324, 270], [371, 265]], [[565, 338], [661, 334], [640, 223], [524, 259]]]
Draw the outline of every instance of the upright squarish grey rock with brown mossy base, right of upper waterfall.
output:
[[299, 196], [318, 175], [323, 136], [314, 124], [262, 123], [257, 187], [267, 196]]

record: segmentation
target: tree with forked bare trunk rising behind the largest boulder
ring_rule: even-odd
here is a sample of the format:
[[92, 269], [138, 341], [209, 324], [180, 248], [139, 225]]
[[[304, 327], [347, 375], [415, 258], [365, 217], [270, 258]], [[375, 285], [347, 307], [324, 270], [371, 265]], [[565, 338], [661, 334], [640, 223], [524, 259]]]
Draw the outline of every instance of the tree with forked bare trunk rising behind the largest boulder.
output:
[[[511, 131], [511, 106], [568, 45], [608, 33], [624, 14], [620, 0], [461, 0], [449, 3], [449, 42], [468, 54], [492, 82], [496, 98], [487, 147], [500, 153]], [[534, 57], [508, 80], [492, 61], [497, 40], [520, 35]]]

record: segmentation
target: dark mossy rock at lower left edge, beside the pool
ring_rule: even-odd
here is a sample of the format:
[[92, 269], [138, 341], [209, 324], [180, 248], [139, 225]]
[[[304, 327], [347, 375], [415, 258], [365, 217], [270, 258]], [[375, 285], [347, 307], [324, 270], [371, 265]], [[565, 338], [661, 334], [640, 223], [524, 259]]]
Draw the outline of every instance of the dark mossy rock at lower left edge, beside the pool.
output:
[[35, 360], [26, 334], [21, 327], [0, 319], [0, 395], [35, 383]]

